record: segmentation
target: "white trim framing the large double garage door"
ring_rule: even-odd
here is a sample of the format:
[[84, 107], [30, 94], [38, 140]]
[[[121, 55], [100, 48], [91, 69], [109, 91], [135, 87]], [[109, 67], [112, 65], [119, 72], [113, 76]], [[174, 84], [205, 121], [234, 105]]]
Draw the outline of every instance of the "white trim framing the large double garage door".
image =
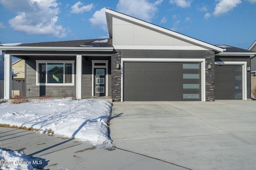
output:
[[149, 58], [122, 58], [121, 59], [121, 102], [124, 102], [124, 62], [197, 62], [201, 63], [201, 101], [205, 102], [205, 59], [149, 59]]

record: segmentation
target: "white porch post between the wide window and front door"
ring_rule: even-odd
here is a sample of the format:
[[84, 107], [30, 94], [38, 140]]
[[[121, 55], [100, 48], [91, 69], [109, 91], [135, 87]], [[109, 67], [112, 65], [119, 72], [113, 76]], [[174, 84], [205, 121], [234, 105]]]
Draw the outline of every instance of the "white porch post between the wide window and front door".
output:
[[76, 98], [82, 98], [82, 55], [76, 55]]

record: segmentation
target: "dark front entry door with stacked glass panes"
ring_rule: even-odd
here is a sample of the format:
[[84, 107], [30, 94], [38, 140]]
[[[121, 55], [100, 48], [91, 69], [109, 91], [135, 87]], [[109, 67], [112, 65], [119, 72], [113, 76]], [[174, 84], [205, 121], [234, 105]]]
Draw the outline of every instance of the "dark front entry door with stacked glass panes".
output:
[[106, 68], [94, 68], [94, 96], [106, 96]]

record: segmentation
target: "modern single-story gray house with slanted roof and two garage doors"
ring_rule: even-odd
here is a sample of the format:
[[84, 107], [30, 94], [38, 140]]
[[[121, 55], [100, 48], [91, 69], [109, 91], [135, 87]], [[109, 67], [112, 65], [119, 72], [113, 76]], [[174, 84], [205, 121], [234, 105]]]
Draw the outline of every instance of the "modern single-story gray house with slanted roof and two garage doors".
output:
[[2, 46], [6, 96], [11, 56], [26, 61], [26, 96], [111, 96], [114, 101], [250, 98], [256, 52], [212, 45], [106, 9], [110, 38]]

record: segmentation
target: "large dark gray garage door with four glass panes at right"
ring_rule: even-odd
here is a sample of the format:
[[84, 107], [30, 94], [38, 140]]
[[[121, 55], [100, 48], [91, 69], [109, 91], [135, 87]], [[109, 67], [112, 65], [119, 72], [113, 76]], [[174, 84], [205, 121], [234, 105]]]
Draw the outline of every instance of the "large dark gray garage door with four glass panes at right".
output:
[[200, 101], [200, 70], [200, 63], [125, 62], [124, 101]]

